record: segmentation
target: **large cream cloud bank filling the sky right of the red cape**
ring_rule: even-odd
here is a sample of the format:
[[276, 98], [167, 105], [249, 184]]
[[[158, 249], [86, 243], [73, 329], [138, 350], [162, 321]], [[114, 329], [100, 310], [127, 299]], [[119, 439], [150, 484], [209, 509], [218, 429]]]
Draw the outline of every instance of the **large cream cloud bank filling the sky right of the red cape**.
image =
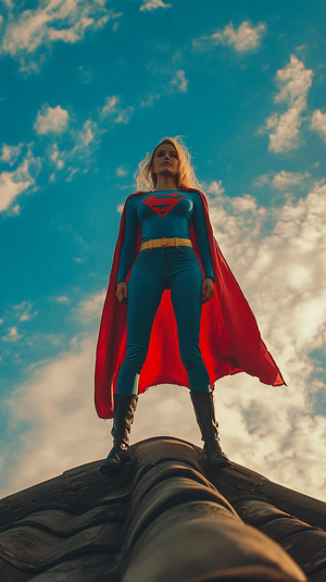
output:
[[275, 226], [264, 236], [271, 210], [252, 205], [233, 212], [225, 196], [211, 203], [217, 240], [288, 384], [268, 388], [246, 375], [218, 383], [225, 449], [244, 466], [321, 498], [326, 419], [314, 403], [325, 397], [326, 386], [314, 380], [319, 364], [311, 354], [326, 342], [325, 194], [324, 181], [298, 202], [272, 209]]

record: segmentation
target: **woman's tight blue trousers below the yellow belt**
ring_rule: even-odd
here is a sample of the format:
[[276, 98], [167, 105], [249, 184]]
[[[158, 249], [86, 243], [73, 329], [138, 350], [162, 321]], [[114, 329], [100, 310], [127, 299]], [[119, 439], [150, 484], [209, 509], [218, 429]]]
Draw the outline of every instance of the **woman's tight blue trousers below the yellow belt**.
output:
[[137, 394], [140, 370], [164, 289], [171, 289], [180, 357], [191, 391], [210, 392], [210, 377], [199, 348], [202, 272], [191, 247], [142, 250], [128, 284], [127, 350], [117, 377], [121, 396]]

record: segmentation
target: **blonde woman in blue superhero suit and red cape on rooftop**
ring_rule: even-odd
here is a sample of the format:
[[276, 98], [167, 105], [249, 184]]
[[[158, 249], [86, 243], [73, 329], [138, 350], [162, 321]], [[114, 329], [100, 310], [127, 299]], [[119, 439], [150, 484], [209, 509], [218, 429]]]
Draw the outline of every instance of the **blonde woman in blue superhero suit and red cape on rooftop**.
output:
[[198, 187], [188, 150], [165, 138], [139, 164], [138, 191], [124, 207], [97, 347], [96, 407], [100, 418], [114, 419], [103, 473], [128, 459], [137, 395], [149, 386], [190, 388], [208, 460], [225, 467], [214, 382], [246, 371], [285, 384]]

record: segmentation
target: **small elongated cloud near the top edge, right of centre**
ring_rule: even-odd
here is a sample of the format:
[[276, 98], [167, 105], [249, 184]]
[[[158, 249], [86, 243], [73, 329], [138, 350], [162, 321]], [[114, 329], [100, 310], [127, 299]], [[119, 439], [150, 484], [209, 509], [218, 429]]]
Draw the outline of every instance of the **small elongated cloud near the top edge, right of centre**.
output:
[[195, 39], [192, 46], [196, 49], [205, 50], [215, 47], [216, 45], [227, 45], [233, 47], [237, 52], [248, 52], [260, 46], [265, 29], [265, 24], [259, 24], [258, 26], [252, 27], [249, 22], [242, 22], [238, 29], [235, 29], [230, 22], [223, 29], [220, 29], [210, 36]]

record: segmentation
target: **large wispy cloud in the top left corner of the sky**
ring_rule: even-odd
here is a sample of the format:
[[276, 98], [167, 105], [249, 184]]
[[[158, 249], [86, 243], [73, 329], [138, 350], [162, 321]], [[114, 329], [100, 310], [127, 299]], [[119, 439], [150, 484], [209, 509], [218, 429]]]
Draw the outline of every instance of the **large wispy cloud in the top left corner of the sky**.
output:
[[45, 58], [45, 46], [50, 47], [57, 40], [78, 42], [87, 30], [100, 29], [110, 18], [118, 16], [100, 0], [48, 0], [8, 21], [2, 51], [18, 58], [22, 71], [37, 71]]

